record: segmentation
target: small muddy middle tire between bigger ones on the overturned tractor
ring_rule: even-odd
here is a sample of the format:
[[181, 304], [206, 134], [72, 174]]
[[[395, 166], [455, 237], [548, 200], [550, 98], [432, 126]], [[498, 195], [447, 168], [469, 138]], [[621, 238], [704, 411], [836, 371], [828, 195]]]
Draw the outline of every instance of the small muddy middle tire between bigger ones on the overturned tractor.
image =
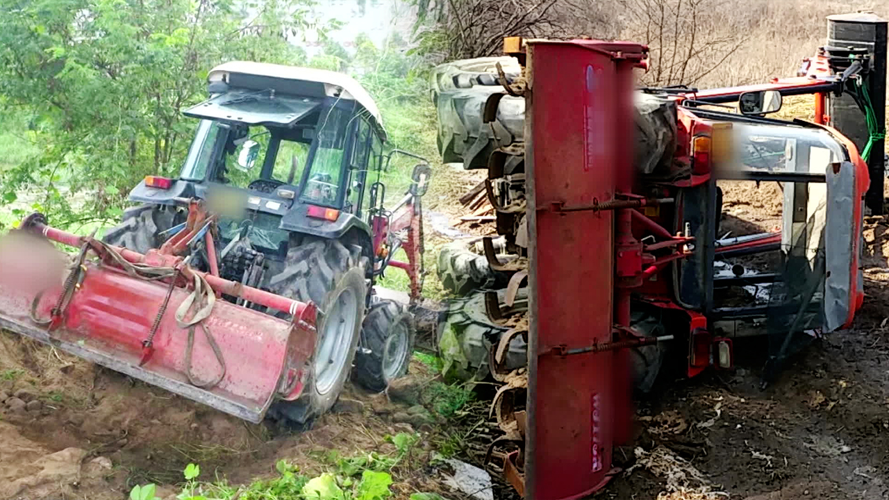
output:
[[442, 287], [453, 294], [466, 295], [476, 290], [506, 286], [509, 276], [492, 270], [485, 255], [473, 252], [472, 246], [471, 242], [454, 241], [442, 247], [437, 262]]

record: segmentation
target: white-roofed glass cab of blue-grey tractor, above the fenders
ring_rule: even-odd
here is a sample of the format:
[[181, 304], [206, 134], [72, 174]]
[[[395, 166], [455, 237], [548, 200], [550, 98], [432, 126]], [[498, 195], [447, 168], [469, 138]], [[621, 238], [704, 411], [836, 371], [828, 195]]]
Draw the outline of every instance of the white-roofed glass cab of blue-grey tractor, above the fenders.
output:
[[185, 111], [202, 122], [180, 179], [360, 214], [364, 177], [380, 167], [386, 134], [355, 80], [230, 62], [209, 81], [211, 98]]

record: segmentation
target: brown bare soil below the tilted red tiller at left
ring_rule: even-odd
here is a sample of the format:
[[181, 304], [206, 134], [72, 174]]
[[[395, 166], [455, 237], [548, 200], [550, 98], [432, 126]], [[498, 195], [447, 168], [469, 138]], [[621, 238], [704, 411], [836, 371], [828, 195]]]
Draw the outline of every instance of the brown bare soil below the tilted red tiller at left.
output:
[[[419, 363], [413, 373], [427, 372]], [[432, 375], [428, 375], [432, 376]], [[412, 465], [395, 476], [394, 498], [436, 491], [425, 464], [432, 429], [394, 423], [404, 411], [385, 394], [348, 386], [342, 398], [357, 408], [324, 415], [308, 431], [245, 423], [209, 407], [96, 367], [18, 335], [0, 332], [0, 499], [125, 498], [137, 484], [178, 493], [186, 464], [200, 464], [202, 480], [249, 484], [276, 476], [277, 460], [315, 475], [339, 456], [389, 454], [385, 440], [419, 431]], [[18, 408], [21, 399], [27, 408]]]

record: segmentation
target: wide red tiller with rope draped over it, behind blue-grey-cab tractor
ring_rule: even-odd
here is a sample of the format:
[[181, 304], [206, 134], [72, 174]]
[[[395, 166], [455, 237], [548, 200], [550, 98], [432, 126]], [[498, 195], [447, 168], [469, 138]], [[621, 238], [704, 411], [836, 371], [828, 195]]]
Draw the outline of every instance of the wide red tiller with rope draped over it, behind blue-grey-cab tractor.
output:
[[[0, 328], [253, 423], [274, 399], [299, 397], [315, 347], [313, 305], [30, 219], [0, 240], [10, 270], [0, 273]], [[41, 234], [80, 246], [74, 265]], [[293, 320], [216, 300], [223, 292]]]

